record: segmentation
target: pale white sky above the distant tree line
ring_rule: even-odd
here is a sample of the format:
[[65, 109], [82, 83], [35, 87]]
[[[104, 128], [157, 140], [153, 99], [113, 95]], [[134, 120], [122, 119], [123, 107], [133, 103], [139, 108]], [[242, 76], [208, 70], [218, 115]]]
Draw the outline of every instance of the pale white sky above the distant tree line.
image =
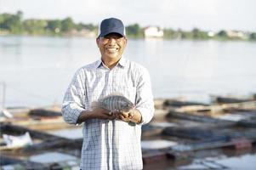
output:
[[93, 23], [116, 17], [128, 26], [256, 32], [255, 0], [0, 0], [0, 14], [21, 10], [24, 19]]

